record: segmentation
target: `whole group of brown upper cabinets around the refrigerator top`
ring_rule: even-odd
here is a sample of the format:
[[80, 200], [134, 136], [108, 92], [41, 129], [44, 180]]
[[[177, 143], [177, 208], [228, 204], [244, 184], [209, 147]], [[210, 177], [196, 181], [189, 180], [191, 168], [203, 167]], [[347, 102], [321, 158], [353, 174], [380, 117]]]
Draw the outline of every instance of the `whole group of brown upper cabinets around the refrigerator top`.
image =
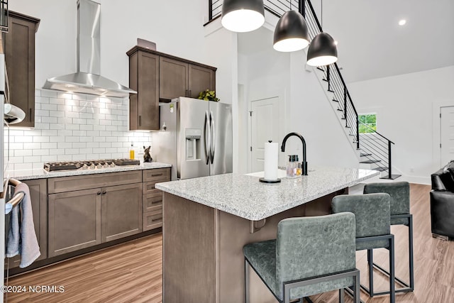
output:
[[216, 67], [135, 46], [129, 56], [129, 129], [159, 130], [159, 102], [216, 89]]

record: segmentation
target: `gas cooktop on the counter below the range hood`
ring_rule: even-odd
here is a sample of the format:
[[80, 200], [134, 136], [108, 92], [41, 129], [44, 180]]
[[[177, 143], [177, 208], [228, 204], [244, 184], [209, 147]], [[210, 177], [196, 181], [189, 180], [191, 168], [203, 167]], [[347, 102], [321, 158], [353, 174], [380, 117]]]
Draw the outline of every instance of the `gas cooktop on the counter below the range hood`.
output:
[[140, 165], [140, 161], [133, 159], [105, 159], [70, 162], [48, 162], [44, 163], [44, 170], [48, 172], [55, 172], [60, 170], [96, 170], [121, 165]]

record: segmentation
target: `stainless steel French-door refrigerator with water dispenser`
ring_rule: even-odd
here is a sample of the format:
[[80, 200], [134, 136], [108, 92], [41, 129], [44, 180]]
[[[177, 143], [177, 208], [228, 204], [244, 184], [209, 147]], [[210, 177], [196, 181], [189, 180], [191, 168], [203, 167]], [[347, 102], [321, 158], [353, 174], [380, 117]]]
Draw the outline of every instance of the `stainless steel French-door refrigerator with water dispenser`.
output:
[[232, 172], [231, 104], [186, 97], [160, 104], [153, 161], [172, 164], [172, 180]]

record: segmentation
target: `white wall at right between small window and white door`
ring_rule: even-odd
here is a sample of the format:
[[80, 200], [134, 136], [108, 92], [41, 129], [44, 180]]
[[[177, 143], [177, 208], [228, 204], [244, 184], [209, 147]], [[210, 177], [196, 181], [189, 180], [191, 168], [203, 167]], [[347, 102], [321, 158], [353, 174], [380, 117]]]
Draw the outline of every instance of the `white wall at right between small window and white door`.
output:
[[440, 163], [440, 106], [454, 106], [454, 66], [363, 82], [348, 89], [359, 113], [377, 113], [377, 131], [393, 141], [392, 165], [430, 184]]

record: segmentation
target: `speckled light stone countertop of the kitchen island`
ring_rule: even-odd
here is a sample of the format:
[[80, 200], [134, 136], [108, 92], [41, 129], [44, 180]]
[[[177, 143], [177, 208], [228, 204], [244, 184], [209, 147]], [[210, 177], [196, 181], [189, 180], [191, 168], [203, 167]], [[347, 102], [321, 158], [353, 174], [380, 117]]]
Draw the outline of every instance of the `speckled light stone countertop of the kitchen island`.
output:
[[248, 220], [262, 220], [326, 194], [380, 175], [376, 170], [313, 166], [307, 176], [265, 184], [254, 175], [225, 174], [162, 182], [155, 188], [226, 211]]

